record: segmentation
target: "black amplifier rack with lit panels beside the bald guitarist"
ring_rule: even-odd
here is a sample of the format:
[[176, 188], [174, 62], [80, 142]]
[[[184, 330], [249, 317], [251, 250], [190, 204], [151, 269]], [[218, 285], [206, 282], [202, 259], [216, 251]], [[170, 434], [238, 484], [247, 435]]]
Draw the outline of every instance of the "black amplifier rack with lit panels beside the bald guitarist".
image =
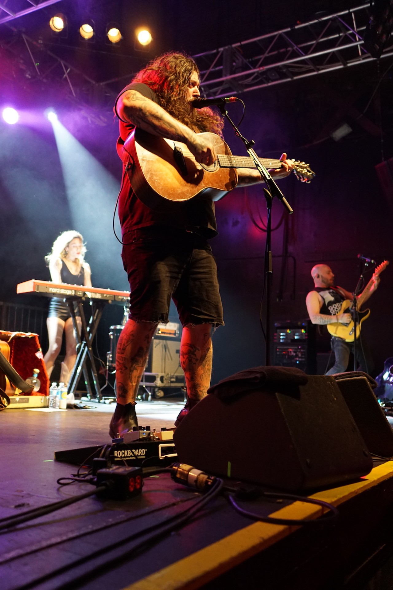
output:
[[315, 326], [310, 320], [275, 323], [274, 350], [276, 366], [297, 367], [315, 375]]

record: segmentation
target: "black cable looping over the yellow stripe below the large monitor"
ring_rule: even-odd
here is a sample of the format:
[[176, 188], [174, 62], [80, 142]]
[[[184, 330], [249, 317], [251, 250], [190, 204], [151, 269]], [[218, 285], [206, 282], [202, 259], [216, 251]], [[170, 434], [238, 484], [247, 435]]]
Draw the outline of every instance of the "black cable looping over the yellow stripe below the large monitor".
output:
[[295, 494], [281, 494], [281, 493], [263, 492], [263, 491], [260, 492], [260, 495], [270, 497], [270, 498], [278, 498], [278, 499], [282, 499], [282, 500], [293, 500], [293, 501], [306, 502], [309, 504], [316, 504], [317, 506], [327, 508], [328, 510], [331, 511], [332, 514], [323, 514], [322, 520], [318, 520], [318, 519], [317, 520], [280, 519], [280, 518], [275, 518], [272, 516], [260, 516], [259, 514], [256, 514], [254, 512], [249, 512], [248, 510], [244, 510], [243, 508], [241, 508], [239, 506], [239, 504], [236, 503], [235, 496], [233, 496], [232, 494], [227, 494], [227, 498], [229, 499], [233, 508], [236, 510], [236, 512], [239, 512], [239, 514], [242, 514], [243, 516], [246, 516], [246, 517], [251, 518], [253, 520], [262, 520], [262, 522], [268, 522], [268, 523], [271, 523], [272, 525], [298, 525], [298, 526], [312, 525], [312, 526], [316, 526], [316, 525], [321, 525], [321, 523], [325, 523], [325, 522], [332, 522], [332, 521], [335, 522], [336, 519], [338, 519], [338, 517], [339, 517], [339, 512], [336, 509], [336, 507], [333, 506], [332, 504], [329, 504], [328, 502], [323, 501], [323, 500], [316, 500], [314, 498], [309, 498], [307, 496], [297, 496]]

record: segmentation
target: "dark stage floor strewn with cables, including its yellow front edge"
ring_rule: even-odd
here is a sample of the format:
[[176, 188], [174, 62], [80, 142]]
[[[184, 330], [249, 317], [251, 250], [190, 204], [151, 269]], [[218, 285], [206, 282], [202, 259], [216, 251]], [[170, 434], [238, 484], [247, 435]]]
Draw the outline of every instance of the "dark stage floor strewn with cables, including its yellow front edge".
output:
[[[110, 442], [114, 406], [86, 405], [91, 408], [1, 412], [0, 519], [93, 489], [88, 483], [59, 486], [58, 478], [77, 468], [54, 461], [55, 451]], [[139, 402], [139, 422], [171, 427], [181, 407], [181, 401]], [[340, 507], [338, 523], [310, 529], [252, 522], [221, 495], [192, 522], [135, 552], [148, 527], [199, 499], [161, 473], [146, 478], [142, 494], [128, 501], [94, 495], [5, 531], [0, 520], [1, 588], [344, 588], [342, 582], [391, 536], [393, 462], [316, 497]], [[265, 501], [262, 509], [295, 519], [321, 514], [302, 502]]]

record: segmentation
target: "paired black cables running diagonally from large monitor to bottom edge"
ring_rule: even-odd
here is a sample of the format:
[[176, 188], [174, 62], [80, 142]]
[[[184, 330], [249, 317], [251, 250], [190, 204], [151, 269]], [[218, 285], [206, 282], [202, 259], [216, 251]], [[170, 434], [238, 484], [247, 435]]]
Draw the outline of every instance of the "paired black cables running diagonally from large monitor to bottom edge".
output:
[[[100, 557], [101, 555], [105, 555], [105, 553], [108, 553], [109, 551], [121, 548], [121, 546], [123, 546], [125, 543], [130, 543], [133, 539], [140, 537], [141, 535], [145, 536], [144, 539], [138, 542], [137, 545], [134, 545], [133, 548], [126, 549], [123, 551], [123, 553], [120, 554], [117, 553], [114, 558], [109, 558], [107, 560], [101, 561], [100, 565], [95, 565], [90, 571], [80, 574], [76, 578], [72, 579], [72, 581], [64, 582], [64, 584], [60, 584], [58, 586], [52, 585], [53, 590], [74, 590], [75, 588], [83, 584], [86, 580], [91, 581], [92, 579], [97, 578], [97, 576], [101, 573], [107, 573], [109, 569], [117, 567], [121, 562], [134, 558], [137, 555], [138, 550], [141, 551], [144, 549], [151, 548], [151, 543], [153, 543], [155, 540], [158, 540], [161, 536], [170, 533], [172, 530], [176, 529], [180, 525], [183, 525], [185, 522], [187, 522], [187, 520], [190, 520], [196, 512], [202, 509], [214, 497], [218, 496], [218, 494], [222, 491], [222, 488], [223, 481], [217, 478], [216, 482], [213, 484], [210, 490], [207, 491], [207, 493], [204, 494], [204, 496], [202, 496], [201, 499], [197, 500], [193, 504], [193, 506], [187, 508], [186, 510], [183, 510], [180, 514], [174, 514], [173, 516], [169, 516], [160, 523], [151, 525], [141, 532], [133, 533], [125, 539], [120, 539], [118, 541], [115, 541], [114, 543], [111, 543], [111, 545], [107, 547], [102, 547], [100, 549], [95, 550], [93, 553], [90, 553], [90, 555], [85, 555], [81, 558], [75, 559], [75, 561], [72, 563], [68, 563], [67, 565], [61, 566], [60, 568], [57, 568], [50, 573], [40, 576], [39, 578], [36, 578], [35, 580], [28, 582], [27, 584], [19, 586], [18, 590], [29, 590], [29, 588], [34, 588], [34, 586], [42, 584], [43, 582], [46, 582], [54, 578], [55, 576], [61, 575], [64, 572], [69, 572], [71, 568], [75, 568], [78, 565], [85, 564], [89, 560]], [[160, 530], [156, 530], [158, 528]], [[150, 532], [152, 532], [152, 534], [146, 536], [147, 533]]]

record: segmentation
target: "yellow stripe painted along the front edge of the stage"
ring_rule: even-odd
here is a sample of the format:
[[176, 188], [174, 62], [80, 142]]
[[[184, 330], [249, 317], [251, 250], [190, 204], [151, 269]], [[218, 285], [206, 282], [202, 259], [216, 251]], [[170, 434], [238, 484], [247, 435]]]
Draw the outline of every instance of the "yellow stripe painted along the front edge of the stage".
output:
[[[393, 461], [374, 467], [368, 476], [355, 483], [345, 484], [330, 490], [319, 491], [310, 496], [338, 506], [382, 481], [393, 477]], [[283, 519], [313, 519], [321, 516], [322, 508], [315, 504], [298, 501], [270, 514]], [[239, 563], [249, 559], [273, 543], [290, 535], [298, 526], [272, 525], [255, 522], [216, 543], [209, 545], [186, 558], [172, 563], [148, 575], [123, 590], [194, 590], [211, 581]]]

